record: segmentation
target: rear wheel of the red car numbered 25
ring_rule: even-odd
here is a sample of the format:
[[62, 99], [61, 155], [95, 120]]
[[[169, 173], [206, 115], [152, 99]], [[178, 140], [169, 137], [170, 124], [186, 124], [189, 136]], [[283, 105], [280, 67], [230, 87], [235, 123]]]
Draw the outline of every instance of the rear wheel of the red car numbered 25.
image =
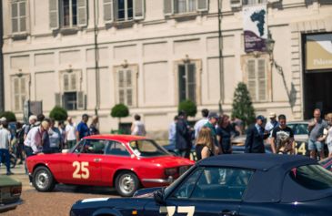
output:
[[139, 180], [135, 173], [122, 171], [116, 176], [116, 191], [123, 197], [131, 197], [139, 188]]

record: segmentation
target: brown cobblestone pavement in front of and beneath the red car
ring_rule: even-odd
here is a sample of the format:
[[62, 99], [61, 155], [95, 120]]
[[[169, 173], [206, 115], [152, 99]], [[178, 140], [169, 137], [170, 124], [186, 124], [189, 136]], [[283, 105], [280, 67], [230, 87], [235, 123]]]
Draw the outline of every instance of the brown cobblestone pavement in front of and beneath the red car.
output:
[[[29, 185], [27, 175], [22, 165], [12, 170], [15, 180], [23, 184], [21, 198], [23, 204], [15, 210], [5, 211], [2, 216], [62, 216], [69, 215], [69, 210], [75, 201], [94, 197], [118, 197], [113, 189], [102, 187], [83, 187], [58, 185], [52, 192], [38, 192]], [[0, 169], [1, 175], [5, 173], [5, 167]]]

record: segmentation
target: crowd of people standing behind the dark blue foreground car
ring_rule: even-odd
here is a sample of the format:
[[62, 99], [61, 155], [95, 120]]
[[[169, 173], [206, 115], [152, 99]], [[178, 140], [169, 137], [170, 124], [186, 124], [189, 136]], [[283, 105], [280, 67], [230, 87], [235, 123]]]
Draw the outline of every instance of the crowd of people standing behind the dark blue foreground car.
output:
[[[245, 153], [265, 153], [266, 144], [270, 144], [272, 153], [296, 154], [294, 131], [287, 127], [287, 117], [269, 114], [269, 121], [258, 115], [255, 124], [246, 129]], [[310, 157], [324, 159], [324, 145], [327, 144], [328, 157], [332, 157], [332, 113], [326, 119], [321, 118], [318, 108], [314, 118], [308, 123], [308, 145]], [[195, 146], [196, 159], [205, 159], [218, 154], [232, 153], [231, 140], [244, 132], [240, 119], [230, 119], [227, 115], [217, 115], [202, 109], [202, 118], [195, 126], [189, 126], [186, 112], [180, 111], [168, 129], [169, 143], [175, 145], [179, 155], [190, 158]], [[318, 154], [318, 155], [317, 155]]]

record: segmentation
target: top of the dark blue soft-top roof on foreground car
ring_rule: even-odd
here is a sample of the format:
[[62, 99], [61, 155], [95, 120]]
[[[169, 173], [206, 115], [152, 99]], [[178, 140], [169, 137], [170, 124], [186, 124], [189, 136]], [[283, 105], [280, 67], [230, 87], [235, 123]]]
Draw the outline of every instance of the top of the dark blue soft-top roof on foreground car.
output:
[[219, 155], [203, 159], [200, 166], [225, 166], [252, 170], [270, 170], [278, 167], [280, 170], [290, 170], [294, 167], [307, 164], [316, 164], [317, 161], [305, 156], [278, 155], [278, 154], [230, 154]]

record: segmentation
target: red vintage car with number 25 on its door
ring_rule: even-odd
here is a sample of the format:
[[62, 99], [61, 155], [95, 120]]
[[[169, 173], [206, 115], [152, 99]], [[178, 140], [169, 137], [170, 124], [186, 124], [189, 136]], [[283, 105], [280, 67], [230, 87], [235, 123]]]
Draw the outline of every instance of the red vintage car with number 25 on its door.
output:
[[127, 135], [86, 137], [66, 153], [39, 154], [26, 162], [36, 190], [53, 190], [57, 183], [108, 186], [122, 196], [168, 185], [194, 164], [152, 139]]

